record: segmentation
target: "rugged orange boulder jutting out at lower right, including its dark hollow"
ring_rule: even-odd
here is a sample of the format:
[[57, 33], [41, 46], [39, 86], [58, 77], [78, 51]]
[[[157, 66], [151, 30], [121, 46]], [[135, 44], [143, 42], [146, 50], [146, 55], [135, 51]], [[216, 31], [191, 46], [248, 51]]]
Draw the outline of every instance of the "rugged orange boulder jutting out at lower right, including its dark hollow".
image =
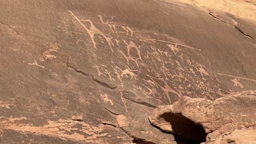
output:
[[149, 119], [162, 130], [194, 141], [230, 140], [232, 143], [247, 136], [250, 137], [247, 142], [255, 143], [256, 92], [237, 93], [213, 101], [182, 97], [173, 105], [156, 107]]

